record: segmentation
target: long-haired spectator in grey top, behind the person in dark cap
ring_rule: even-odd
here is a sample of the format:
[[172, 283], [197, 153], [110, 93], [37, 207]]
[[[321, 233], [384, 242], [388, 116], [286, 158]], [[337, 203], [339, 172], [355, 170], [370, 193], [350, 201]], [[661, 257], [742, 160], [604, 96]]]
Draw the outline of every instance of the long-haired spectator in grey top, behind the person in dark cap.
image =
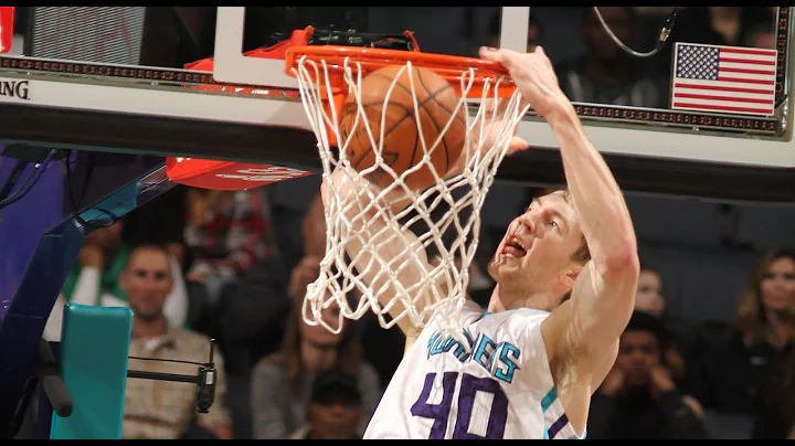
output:
[[254, 367], [251, 381], [254, 437], [289, 438], [304, 426], [312, 380], [330, 369], [357, 376], [363, 395], [364, 416], [358, 432], [362, 435], [383, 389], [373, 367], [363, 360], [356, 323], [341, 318], [339, 306], [332, 304], [324, 309], [322, 318], [332, 328], [341, 329], [338, 334], [320, 325], [309, 326], [304, 320], [303, 300], [303, 295], [293, 300], [282, 349]]

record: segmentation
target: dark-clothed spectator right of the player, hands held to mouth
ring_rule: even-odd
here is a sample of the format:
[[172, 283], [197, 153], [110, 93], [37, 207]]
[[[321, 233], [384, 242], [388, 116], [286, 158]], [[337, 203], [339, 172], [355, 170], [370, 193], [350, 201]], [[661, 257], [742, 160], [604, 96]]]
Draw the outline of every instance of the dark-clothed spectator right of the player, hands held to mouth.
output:
[[618, 357], [594, 394], [587, 438], [702, 439], [701, 407], [679, 393], [665, 358], [659, 320], [636, 311]]

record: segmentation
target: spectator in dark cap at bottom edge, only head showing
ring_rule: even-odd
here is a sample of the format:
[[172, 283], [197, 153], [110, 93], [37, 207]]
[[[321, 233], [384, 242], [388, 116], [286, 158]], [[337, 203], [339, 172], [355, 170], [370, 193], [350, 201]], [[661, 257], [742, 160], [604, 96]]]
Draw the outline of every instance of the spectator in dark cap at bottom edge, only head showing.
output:
[[293, 439], [361, 439], [362, 399], [356, 378], [339, 370], [320, 373], [307, 404], [307, 424]]

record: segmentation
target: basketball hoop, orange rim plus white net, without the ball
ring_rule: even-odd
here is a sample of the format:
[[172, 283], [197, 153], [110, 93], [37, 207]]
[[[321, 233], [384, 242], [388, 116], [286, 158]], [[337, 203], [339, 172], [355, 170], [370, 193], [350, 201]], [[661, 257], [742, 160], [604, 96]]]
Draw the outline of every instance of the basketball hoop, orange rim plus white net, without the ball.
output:
[[[320, 317], [321, 310], [331, 302], [339, 304], [342, 316], [349, 319], [359, 319], [372, 310], [384, 328], [390, 328], [404, 318], [407, 318], [412, 326], [422, 328], [428, 317], [436, 314], [446, 323], [443, 323], [446, 333], [463, 341], [458, 316], [465, 301], [469, 266], [478, 245], [480, 209], [521, 117], [529, 108], [520, 100], [507, 71], [496, 62], [479, 59], [335, 45], [294, 46], [287, 50], [285, 62], [286, 72], [298, 79], [304, 107], [318, 139], [324, 167], [322, 181], [328, 194], [327, 249], [320, 263], [319, 277], [307, 288], [304, 301], [305, 321], [321, 325], [330, 331], [339, 331], [340, 327], [332, 328]], [[369, 73], [388, 65], [401, 66], [401, 70], [409, 70], [410, 73], [416, 67], [431, 68], [456, 91], [459, 97], [458, 107], [466, 110], [468, 123], [466, 149], [460, 155], [460, 158], [465, 158], [463, 170], [454, 174], [434, 173], [437, 181], [430, 189], [411, 190], [404, 181], [407, 172], [396, 174], [379, 156], [377, 166], [365, 170], [384, 170], [392, 176], [389, 178], [389, 185], [377, 191], [367, 187], [354, 189], [353, 198], [350, 194], [341, 197], [332, 183], [335, 174], [344, 176], [351, 183], [361, 184], [368, 181], [362, 177], [362, 172], [351, 168], [350, 159], [346, 157], [351, 136], [349, 135], [347, 140], [342, 140], [340, 136], [344, 135], [340, 132], [342, 104], [346, 99], [350, 103], [348, 97], [353, 95], [358, 105], [356, 119], [369, 126], [363, 115], [360, 85]], [[412, 95], [416, 107], [416, 92], [413, 91]], [[497, 103], [500, 104], [499, 107], [490, 106]], [[386, 109], [384, 106], [382, 113], [385, 114]], [[469, 119], [470, 109], [476, 110], [473, 119]], [[443, 134], [447, 128], [449, 124]], [[369, 130], [368, 135], [371, 147], [380, 147], [377, 144], [379, 132]], [[444, 135], [439, 140], [443, 137]], [[426, 156], [417, 166], [430, 163], [428, 150], [438, 145], [439, 140], [422, 140]], [[428, 149], [426, 142], [433, 142], [434, 146]], [[487, 146], [491, 146], [491, 149]], [[394, 211], [389, 204], [381, 204], [395, 192], [409, 199], [402, 199], [410, 202], [407, 208]], [[351, 200], [354, 208], [362, 210], [354, 215], [351, 215], [350, 211]], [[441, 206], [449, 209], [441, 217], [432, 217], [434, 211], [444, 210]], [[466, 217], [462, 215], [465, 209], [470, 211]], [[350, 227], [364, 227], [363, 232], [368, 232], [370, 223], [375, 219], [389, 222], [388, 230], [393, 234], [401, 234], [396, 236], [403, 237], [400, 242], [405, 243], [406, 252], [433, 249], [438, 253], [431, 262], [431, 268], [422, 268], [422, 277], [415, 280], [416, 283], [402, 284], [398, 279], [402, 269], [411, 267], [414, 262], [418, 265], [420, 259], [416, 256], [405, 256], [400, 261], [402, 264], [396, 265], [395, 258], [383, 258], [379, 254], [379, 243], [393, 243], [394, 238], [390, 241], [374, 236], [363, 240], [360, 233], [350, 231]], [[424, 224], [425, 227], [417, 230], [418, 224]], [[415, 237], [406, 236], [406, 231], [412, 231]], [[452, 237], [451, 232], [454, 233]], [[367, 284], [362, 279], [362, 272], [353, 267], [353, 259], [346, 254], [346, 247], [350, 243], [363, 244], [361, 251], [372, 258], [367, 268], [369, 274], [375, 274], [379, 284], [391, 286], [394, 296], [388, 305], [378, 301], [378, 295], [385, 289], [384, 286]], [[442, 286], [438, 286], [439, 284]], [[353, 301], [348, 297], [354, 290], [361, 294], [356, 306], [351, 305]], [[402, 306], [404, 310], [388, 320], [384, 315], [395, 305]], [[467, 346], [467, 342], [462, 342], [462, 346]]]

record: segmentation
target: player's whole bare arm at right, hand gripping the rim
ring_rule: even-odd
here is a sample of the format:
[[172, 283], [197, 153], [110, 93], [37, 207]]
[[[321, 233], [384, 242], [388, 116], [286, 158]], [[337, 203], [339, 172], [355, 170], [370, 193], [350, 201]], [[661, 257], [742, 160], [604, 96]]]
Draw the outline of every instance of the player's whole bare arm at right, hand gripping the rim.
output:
[[615, 347], [635, 306], [637, 243], [627, 205], [560, 89], [543, 50], [519, 54], [485, 49], [481, 55], [510, 71], [522, 96], [547, 119], [560, 145], [571, 202], [592, 257], [574, 283], [565, 339], [577, 359], [594, 364]]

